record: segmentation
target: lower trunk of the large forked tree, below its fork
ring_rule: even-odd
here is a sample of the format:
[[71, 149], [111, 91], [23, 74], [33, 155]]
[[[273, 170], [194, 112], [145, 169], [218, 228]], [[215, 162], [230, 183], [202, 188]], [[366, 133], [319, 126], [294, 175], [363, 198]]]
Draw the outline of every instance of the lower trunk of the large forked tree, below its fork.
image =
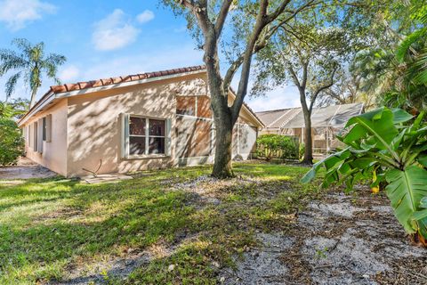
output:
[[231, 118], [222, 113], [215, 119], [216, 144], [215, 160], [212, 175], [216, 178], [228, 178], [234, 176], [231, 168], [233, 125]]

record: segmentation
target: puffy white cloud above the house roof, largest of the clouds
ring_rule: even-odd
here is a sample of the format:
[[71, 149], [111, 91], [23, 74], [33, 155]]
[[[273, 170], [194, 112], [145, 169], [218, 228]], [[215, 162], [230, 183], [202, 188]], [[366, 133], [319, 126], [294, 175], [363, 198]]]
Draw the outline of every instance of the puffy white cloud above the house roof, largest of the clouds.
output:
[[133, 43], [140, 30], [133, 27], [129, 17], [120, 9], [95, 23], [92, 40], [95, 49], [110, 51]]

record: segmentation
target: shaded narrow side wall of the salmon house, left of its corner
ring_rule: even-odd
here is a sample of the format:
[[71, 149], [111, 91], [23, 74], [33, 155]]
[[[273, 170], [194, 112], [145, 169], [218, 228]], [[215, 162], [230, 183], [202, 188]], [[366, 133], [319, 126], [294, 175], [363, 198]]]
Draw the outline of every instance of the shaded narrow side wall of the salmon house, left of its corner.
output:
[[[28, 159], [48, 167], [60, 175], [67, 175], [67, 99], [61, 100], [47, 110], [43, 110], [28, 119], [28, 121], [21, 126], [26, 128], [33, 123], [37, 122], [39, 118], [44, 118], [47, 115], [52, 115], [52, 141], [43, 142], [43, 153], [33, 150], [28, 145], [28, 136], [25, 142], [25, 151]], [[33, 130], [32, 130], [33, 131]]]

